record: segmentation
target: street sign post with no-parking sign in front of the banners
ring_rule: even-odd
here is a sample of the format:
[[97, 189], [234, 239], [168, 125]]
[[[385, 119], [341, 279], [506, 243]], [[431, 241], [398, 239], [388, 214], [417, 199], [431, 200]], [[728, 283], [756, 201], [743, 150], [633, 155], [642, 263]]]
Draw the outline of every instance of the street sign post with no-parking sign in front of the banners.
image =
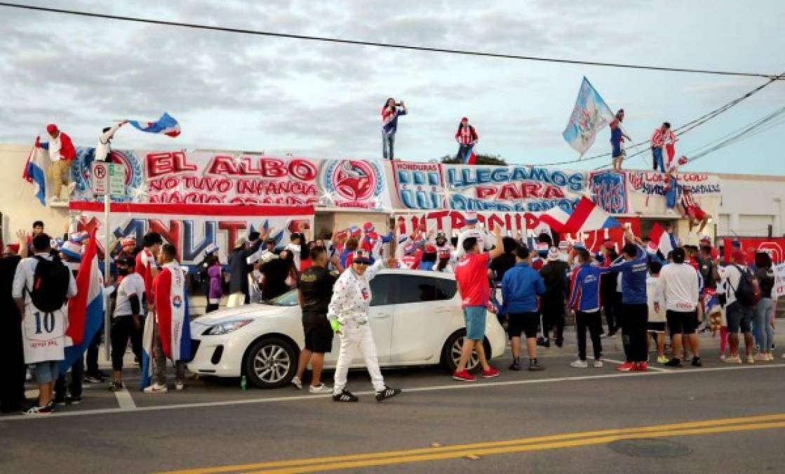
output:
[[[111, 262], [109, 208], [112, 196], [123, 196], [126, 193], [126, 165], [93, 161], [90, 167], [90, 185], [93, 188], [93, 195], [104, 195], [104, 280], [106, 280], [110, 274], [109, 263]], [[104, 295], [104, 346], [106, 347], [106, 358], [111, 358], [109, 350], [111, 345], [109, 344], [110, 324], [109, 295]]]

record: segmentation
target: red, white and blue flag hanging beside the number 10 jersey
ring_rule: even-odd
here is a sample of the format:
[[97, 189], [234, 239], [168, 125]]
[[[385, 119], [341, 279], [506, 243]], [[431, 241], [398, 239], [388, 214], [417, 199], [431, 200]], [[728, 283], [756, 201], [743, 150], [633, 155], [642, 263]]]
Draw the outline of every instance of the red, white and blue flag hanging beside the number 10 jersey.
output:
[[65, 331], [71, 346], [65, 348], [60, 361], [60, 373], [65, 373], [83, 357], [87, 347], [104, 322], [104, 277], [98, 268], [96, 231], [89, 240], [76, 274], [76, 296], [68, 300], [68, 329]]

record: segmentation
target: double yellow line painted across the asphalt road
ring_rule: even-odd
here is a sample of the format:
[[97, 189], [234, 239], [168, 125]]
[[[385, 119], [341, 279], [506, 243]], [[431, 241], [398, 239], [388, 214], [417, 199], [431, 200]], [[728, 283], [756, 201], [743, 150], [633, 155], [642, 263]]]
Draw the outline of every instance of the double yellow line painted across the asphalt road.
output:
[[[197, 468], [173, 471], [177, 474], [210, 474], [216, 472], [238, 472], [251, 469], [285, 468], [286, 472], [307, 472], [307, 470], [327, 470], [330, 468], [363, 467], [397, 462], [427, 461], [430, 459], [446, 459], [449, 457], [468, 457], [479, 454], [502, 454], [528, 449], [551, 449], [554, 447], [582, 446], [586, 444], [607, 443], [616, 439], [655, 437], [657, 435], [684, 435], [710, 432], [707, 430], [741, 431], [755, 429], [751, 427], [781, 428], [785, 427], [785, 413], [761, 415], [755, 417], [721, 418], [716, 420], [689, 421], [675, 424], [660, 424], [636, 428], [615, 428], [589, 432], [561, 433], [542, 435], [522, 439], [506, 439], [486, 443], [469, 443], [453, 446], [436, 446], [412, 450], [382, 451], [365, 454], [349, 454], [344, 456], [312, 457], [290, 461], [270, 461], [245, 465], [225, 465], [211, 468]], [[740, 428], [734, 430], [733, 428]], [[508, 451], [511, 450], [511, 451]], [[433, 457], [436, 456], [436, 457]], [[426, 457], [426, 458], [421, 458]], [[403, 460], [403, 461], [402, 461]], [[387, 462], [389, 461], [389, 462]], [[276, 471], [272, 471], [276, 472]], [[170, 474], [172, 474], [170, 473]]]

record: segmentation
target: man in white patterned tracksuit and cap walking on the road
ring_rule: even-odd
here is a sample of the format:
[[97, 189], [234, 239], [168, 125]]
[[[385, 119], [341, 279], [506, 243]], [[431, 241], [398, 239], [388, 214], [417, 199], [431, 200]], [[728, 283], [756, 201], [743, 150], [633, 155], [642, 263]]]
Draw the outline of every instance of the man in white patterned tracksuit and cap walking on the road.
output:
[[400, 394], [400, 388], [385, 385], [382, 371], [376, 356], [376, 344], [371, 326], [368, 324], [368, 305], [371, 303], [371, 287], [368, 285], [379, 270], [382, 259], [370, 263], [367, 251], [358, 250], [352, 255], [352, 264], [347, 268], [333, 287], [333, 297], [327, 307], [327, 319], [333, 330], [341, 336], [341, 351], [335, 367], [333, 400], [336, 402], [356, 402], [355, 395], [346, 390], [346, 375], [355, 351], [360, 351], [365, 359], [368, 374], [374, 384], [376, 401], [381, 402]]

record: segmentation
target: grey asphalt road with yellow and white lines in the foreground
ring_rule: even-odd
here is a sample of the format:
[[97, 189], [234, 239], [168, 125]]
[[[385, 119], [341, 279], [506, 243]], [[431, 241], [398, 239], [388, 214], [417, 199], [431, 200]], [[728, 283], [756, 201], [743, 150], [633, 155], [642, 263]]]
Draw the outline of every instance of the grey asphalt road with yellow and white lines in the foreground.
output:
[[362, 372], [356, 404], [237, 380], [119, 397], [88, 386], [54, 415], [0, 417], [0, 472], [785, 472], [785, 359], [725, 366], [709, 350], [703, 369], [618, 373], [551, 352], [543, 372], [497, 359], [502, 376], [475, 384], [385, 371], [405, 392], [383, 403]]

